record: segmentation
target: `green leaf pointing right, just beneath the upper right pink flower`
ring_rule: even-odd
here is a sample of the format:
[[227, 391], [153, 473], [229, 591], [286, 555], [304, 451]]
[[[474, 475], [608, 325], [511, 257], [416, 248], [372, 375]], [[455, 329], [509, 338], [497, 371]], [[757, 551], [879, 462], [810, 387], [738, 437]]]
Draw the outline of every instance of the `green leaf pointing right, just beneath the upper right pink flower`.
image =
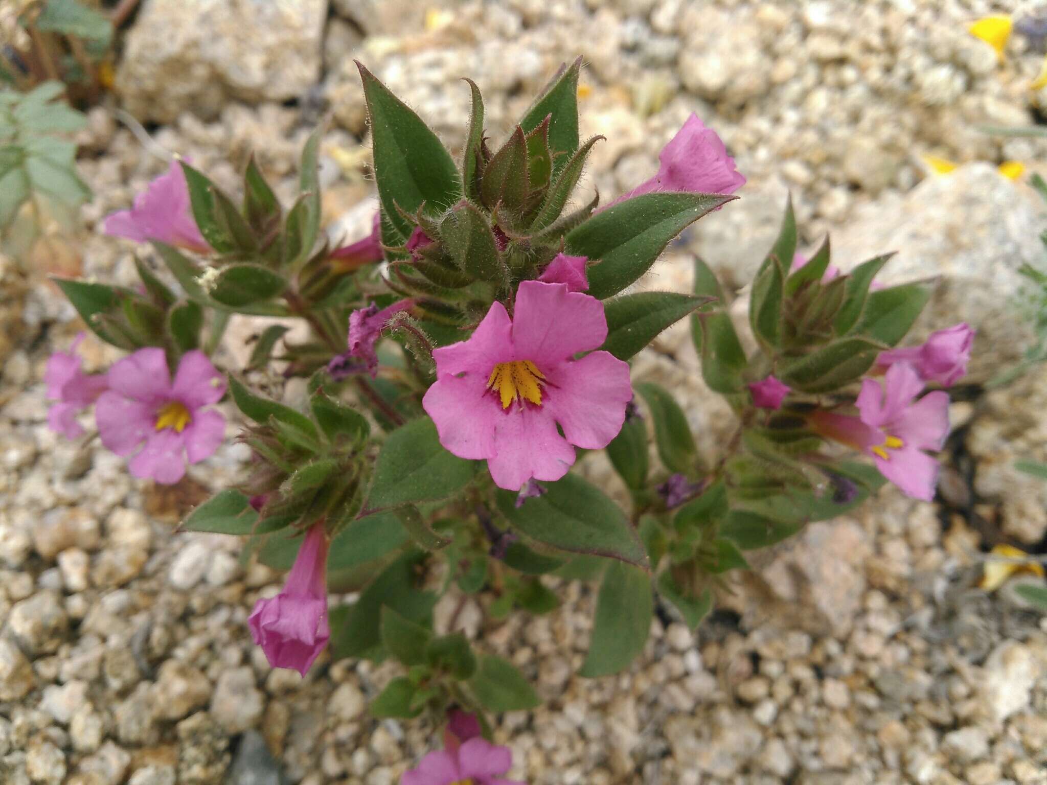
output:
[[600, 260], [588, 269], [588, 294], [618, 294], [650, 269], [669, 241], [734, 199], [717, 194], [644, 194], [596, 212], [566, 236], [566, 252]]

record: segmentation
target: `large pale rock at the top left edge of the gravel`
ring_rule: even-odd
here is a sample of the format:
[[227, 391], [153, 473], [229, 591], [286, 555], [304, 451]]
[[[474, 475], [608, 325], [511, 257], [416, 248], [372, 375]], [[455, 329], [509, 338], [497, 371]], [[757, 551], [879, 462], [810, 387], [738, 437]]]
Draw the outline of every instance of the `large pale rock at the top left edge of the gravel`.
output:
[[140, 120], [296, 98], [320, 74], [327, 0], [147, 0], [116, 90]]

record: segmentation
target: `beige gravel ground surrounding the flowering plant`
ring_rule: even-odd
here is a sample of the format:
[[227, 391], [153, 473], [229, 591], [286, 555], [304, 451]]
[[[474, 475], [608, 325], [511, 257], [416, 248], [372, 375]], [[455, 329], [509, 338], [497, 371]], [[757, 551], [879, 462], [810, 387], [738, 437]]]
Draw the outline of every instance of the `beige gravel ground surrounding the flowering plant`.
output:
[[[147, 3], [132, 35], [149, 40], [164, 8], [196, 5]], [[303, 4], [309, 14], [313, 5]], [[558, 62], [582, 53], [583, 133], [608, 136], [588, 187], [617, 194], [649, 176], [691, 111], [717, 129], [750, 178], [742, 199], [703, 221], [651, 279], [685, 288], [687, 253], [696, 250], [741, 285], [771, 242], [786, 188], [809, 242], [846, 229], [863, 209], [896, 205], [925, 178], [923, 154], [1044, 159], [1043, 141], [973, 128], [1027, 125], [1047, 99], [1028, 89], [1041, 62], [1033, 43], [1016, 37], [998, 60], [965, 32], [972, 19], [1018, 5], [511, 0], [427, 13], [400, 0], [332, 0], [312, 82], [305, 93], [289, 88], [296, 106], [229, 103], [218, 92], [201, 118], [179, 105], [192, 93], [184, 74], [181, 83], [177, 73], [174, 82], [159, 71], [138, 77], [160, 69], [148, 61], [126, 61], [118, 86], [129, 106], [163, 107], [170, 121], [154, 139], [220, 184], [236, 187], [253, 150], [285, 195], [309, 124], [331, 102], [325, 211], [355, 234], [374, 201], [353, 57], [455, 148], [468, 102], [458, 76], [484, 89], [497, 135]], [[315, 35], [307, 28], [303, 36]], [[143, 48], [129, 46], [128, 59]], [[220, 66], [215, 73], [226, 73]], [[137, 95], [135, 84], [154, 92]], [[286, 97], [242, 87], [228, 94]], [[54, 239], [32, 263], [130, 283], [135, 251], [102, 237], [98, 220], [165, 163], [108, 109], [92, 111], [82, 142], [96, 195], [85, 209], [89, 231]], [[1013, 198], [1025, 196], [1016, 188]], [[21, 334], [14, 351], [0, 342], [10, 351], [0, 384], [0, 783], [398, 782], [437, 728], [366, 716], [366, 700], [397, 666], [325, 655], [305, 679], [271, 670], [246, 618], [281, 576], [242, 567], [237, 540], [174, 533], [209, 489], [238, 476], [246, 454], [231, 443], [236, 427], [179, 486], [134, 480], [96, 440], [70, 444], [47, 430], [43, 364], [79, 329], [70, 307], [32, 278], [24, 306], [12, 297], [0, 320]], [[233, 326], [231, 362], [252, 328]], [[670, 331], [637, 374], [687, 398], [699, 448], [713, 451], [726, 408], [696, 380], [687, 343], [686, 329]], [[118, 354], [93, 340], [84, 350], [89, 371]], [[459, 626], [511, 657], [548, 701], [499, 718], [513, 773], [549, 785], [1047, 784], [1047, 624], [1007, 586], [994, 595], [975, 587], [996, 516], [1026, 546], [1042, 546], [1043, 490], [1005, 467], [1047, 441], [1047, 406], [1037, 403], [1047, 401], [1045, 381], [973, 390], [974, 400], [954, 404], [957, 453], [967, 463], [949, 473], [944, 501], [886, 489], [854, 518], [809, 526], [739, 579], [697, 633], [662, 609], [644, 655], [617, 677], [573, 675], [588, 641], [589, 587], [559, 586], [562, 607], [537, 620], [485, 621], [489, 598], [468, 600]], [[589, 461], [584, 470], [615, 491], [606, 467]], [[438, 607], [438, 628], [456, 601]]]

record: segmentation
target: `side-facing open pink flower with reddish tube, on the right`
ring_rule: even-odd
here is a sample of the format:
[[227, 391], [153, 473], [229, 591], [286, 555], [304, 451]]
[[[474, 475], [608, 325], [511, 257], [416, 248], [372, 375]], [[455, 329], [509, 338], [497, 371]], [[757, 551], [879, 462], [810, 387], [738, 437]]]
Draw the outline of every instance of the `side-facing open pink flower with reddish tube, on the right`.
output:
[[855, 405], [860, 417], [816, 411], [811, 427], [828, 439], [869, 455], [879, 473], [913, 498], [930, 501], [938, 480], [937, 452], [949, 435], [949, 395], [936, 390], [916, 400], [923, 380], [908, 362], [896, 362], [884, 376], [862, 382]]

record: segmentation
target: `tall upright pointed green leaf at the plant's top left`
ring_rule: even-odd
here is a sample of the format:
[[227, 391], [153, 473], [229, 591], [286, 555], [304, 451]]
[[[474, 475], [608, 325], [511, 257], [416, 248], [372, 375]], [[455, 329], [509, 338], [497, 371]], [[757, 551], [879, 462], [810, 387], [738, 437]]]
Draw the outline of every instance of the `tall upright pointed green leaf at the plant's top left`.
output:
[[407, 212], [416, 211], [422, 202], [430, 209], [450, 207], [462, 197], [459, 173], [450, 154], [422, 119], [362, 64], [356, 65], [371, 119], [382, 212], [400, 242], [405, 242], [413, 227], [396, 206]]

